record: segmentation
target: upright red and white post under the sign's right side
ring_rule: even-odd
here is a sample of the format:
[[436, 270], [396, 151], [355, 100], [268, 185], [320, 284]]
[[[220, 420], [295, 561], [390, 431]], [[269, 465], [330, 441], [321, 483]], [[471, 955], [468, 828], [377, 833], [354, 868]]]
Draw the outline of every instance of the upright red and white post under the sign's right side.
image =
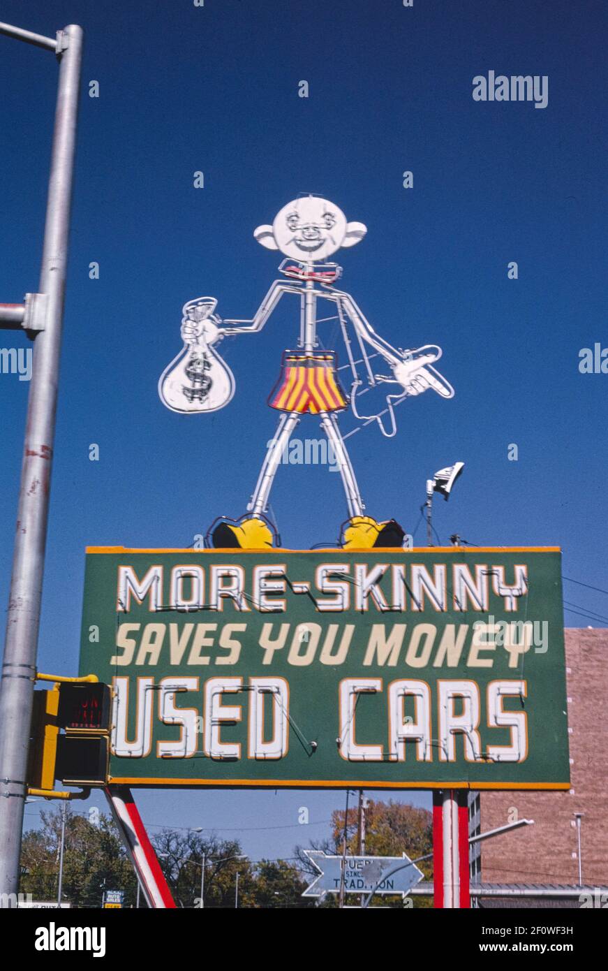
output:
[[466, 790], [432, 793], [434, 907], [468, 909], [468, 806]]

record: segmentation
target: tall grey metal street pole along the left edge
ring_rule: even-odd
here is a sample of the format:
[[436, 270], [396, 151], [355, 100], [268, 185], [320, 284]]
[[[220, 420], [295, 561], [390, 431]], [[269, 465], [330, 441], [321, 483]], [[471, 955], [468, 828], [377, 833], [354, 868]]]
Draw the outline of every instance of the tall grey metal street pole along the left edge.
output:
[[36, 674], [67, 270], [82, 30], [70, 24], [53, 40], [0, 23], [0, 33], [54, 50], [59, 58], [39, 293], [28, 294], [22, 306], [14, 305], [4, 310], [0, 306], [0, 325], [15, 326], [20, 318], [23, 327], [30, 334], [36, 334], [0, 684], [0, 894], [4, 894], [16, 893], [19, 879], [25, 767]]

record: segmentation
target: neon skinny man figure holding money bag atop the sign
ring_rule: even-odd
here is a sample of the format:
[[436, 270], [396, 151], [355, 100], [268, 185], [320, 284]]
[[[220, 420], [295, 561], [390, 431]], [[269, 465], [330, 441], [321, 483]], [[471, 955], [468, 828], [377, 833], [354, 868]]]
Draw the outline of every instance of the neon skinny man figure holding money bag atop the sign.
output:
[[[303, 415], [318, 416], [339, 468], [349, 520], [340, 532], [345, 548], [400, 547], [403, 530], [395, 519], [377, 522], [365, 515], [365, 505], [340, 434], [337, 415], [350, 408], [357, 419], [375, 420], [382, 434], [392, 437], [397, 430], [395, 407], [410, 395], [428, 388], [444, 398], [454, 389], [432, 367], [441, 356], [436, 345], [412, 351], [391, 347], [375, 333], [368, 319], [349, 293], [336, 289], [341, 267], [325, 262], [340, 248], [359, 243], [367, 233], [362, 222], [347, 222], [344, 214], [327, 199], [303, 196], [284, 206], [271, 225], [258, 226], [254, 237], [267, 250], [278, 250], [287, 258], [279, 266], [285, 280], [275, 280], [251, 319], [219, 318], [214, 297], [190, 300], [183, 307], [181, 337], [184, 346], [163, 372], [159, 381], [161, 400], [183, 414], [215, 412], [232, 399], [235, 379], [230, 368], [214, 350], [225, 336], [255, 334], [262, 330], [281, 297], [295, 294], [300, 299], [300, 336], [293, 351], [283, 353], [281, 374], [269, 398], [269, 405], [281, 413], [272, 447], [267, 450], [257, 485], [240, 519], [216, 520], [209, 532], [214, 547], [261, 549], [272, 546], [275, 531], [267, 517], [272, 483], [281, 456]], [[317, 336], [317, 302], [326, 300], [336, 307], [350, 391], [338, 381], [336, 352], [322, 350]], [[328, 319], [328, 318], [323, 318]], [[372, 352], [368, 352], [368, 348]], [[374, 373], [370, 359], [380, 356], [391, 374]], [[357, 365], [364, 366], [365, 381]], [[367, 384], [367, 387], [362, 385]], [[361, 398], [371, 387], [387, 385], [385, 407], [364, 414]], [[274, 532], [274, 536], [273, 536]]]

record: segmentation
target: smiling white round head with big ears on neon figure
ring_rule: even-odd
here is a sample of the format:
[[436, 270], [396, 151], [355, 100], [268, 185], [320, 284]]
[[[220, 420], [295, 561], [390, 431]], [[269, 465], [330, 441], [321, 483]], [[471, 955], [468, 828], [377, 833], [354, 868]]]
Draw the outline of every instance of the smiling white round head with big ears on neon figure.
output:
[[267, 249], [294, 259], [321, 260], [340, 247], [354, 246], [365, 233], [361, 222], [347, 223], [334, 203], [304, 196], [283, 206], [272, 226], [258, 226], [254, 236]]

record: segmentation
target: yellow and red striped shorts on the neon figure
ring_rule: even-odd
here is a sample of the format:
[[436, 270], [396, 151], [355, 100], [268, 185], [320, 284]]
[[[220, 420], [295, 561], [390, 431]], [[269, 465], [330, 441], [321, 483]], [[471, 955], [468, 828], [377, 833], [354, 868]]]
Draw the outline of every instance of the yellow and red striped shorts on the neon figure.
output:
[[336, 378], [336, 354], [284, 352], [281, 374], [272, 389], [269, 405], [280, 412], [300, 415], [347, 408], [348, 401]]

